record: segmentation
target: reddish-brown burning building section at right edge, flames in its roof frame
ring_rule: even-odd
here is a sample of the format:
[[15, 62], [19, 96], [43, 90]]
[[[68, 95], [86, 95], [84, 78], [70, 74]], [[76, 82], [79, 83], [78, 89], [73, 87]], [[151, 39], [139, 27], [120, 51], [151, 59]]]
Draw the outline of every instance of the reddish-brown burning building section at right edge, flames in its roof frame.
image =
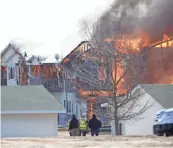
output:
[[[162, 44], [167, 46], [163, 47]], [[162, 44], [144, 49], [147, 69], [145, 83], [172, 84], [173, 82], [173, 39]]]

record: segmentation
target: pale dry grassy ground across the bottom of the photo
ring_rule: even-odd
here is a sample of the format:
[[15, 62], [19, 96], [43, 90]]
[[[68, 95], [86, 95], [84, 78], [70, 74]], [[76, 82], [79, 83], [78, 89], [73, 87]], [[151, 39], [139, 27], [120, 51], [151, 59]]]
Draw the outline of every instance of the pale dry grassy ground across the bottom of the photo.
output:
[[118, 136], [69, 137], [67, 132], [59, 132], [56, 138], [5, 138], [2, 148], [123, 148], [123, 147], [173, 147], [173, 137]]

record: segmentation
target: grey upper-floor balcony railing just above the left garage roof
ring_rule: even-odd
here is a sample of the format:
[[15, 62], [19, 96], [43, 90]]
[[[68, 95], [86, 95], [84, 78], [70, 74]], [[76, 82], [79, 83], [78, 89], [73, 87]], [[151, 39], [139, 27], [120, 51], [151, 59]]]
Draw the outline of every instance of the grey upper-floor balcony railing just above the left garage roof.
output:
[[71, 79], [30, 79], [30, 85], [43, 85], [50, 92], [62, 92], [64, 89], [66, 92], [74, 91]]

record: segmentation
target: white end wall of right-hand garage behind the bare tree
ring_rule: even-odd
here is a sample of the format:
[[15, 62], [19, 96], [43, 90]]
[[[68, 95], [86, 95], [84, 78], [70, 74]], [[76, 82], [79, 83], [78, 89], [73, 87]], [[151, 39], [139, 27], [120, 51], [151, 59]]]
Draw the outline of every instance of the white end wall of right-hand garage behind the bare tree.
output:
[[[140, 104], [144, 104], [150, 97], [147, 93], [141, 96]], [[152, 101], [154, 99], [151, 98]], [[125, 135], [152, 135], [153, 134], [153, 123], [156, 112], [163, 109], [163, 107], [154, 102], [153, 106], [144, 112], [140, 117], [142, 119], [126, 121], [124, 124]]]

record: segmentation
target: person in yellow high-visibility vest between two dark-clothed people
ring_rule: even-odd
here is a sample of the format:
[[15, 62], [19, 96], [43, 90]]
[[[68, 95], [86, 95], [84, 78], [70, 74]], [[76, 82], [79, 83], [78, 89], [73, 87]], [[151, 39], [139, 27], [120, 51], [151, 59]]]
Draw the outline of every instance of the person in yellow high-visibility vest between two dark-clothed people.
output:
[[79, 121], [79, 125], [79, 135], [86, 136], [86, 134], [88, 133], [88, 121], [85, 118], [85, 115], [82, 115], [82, 118]]

